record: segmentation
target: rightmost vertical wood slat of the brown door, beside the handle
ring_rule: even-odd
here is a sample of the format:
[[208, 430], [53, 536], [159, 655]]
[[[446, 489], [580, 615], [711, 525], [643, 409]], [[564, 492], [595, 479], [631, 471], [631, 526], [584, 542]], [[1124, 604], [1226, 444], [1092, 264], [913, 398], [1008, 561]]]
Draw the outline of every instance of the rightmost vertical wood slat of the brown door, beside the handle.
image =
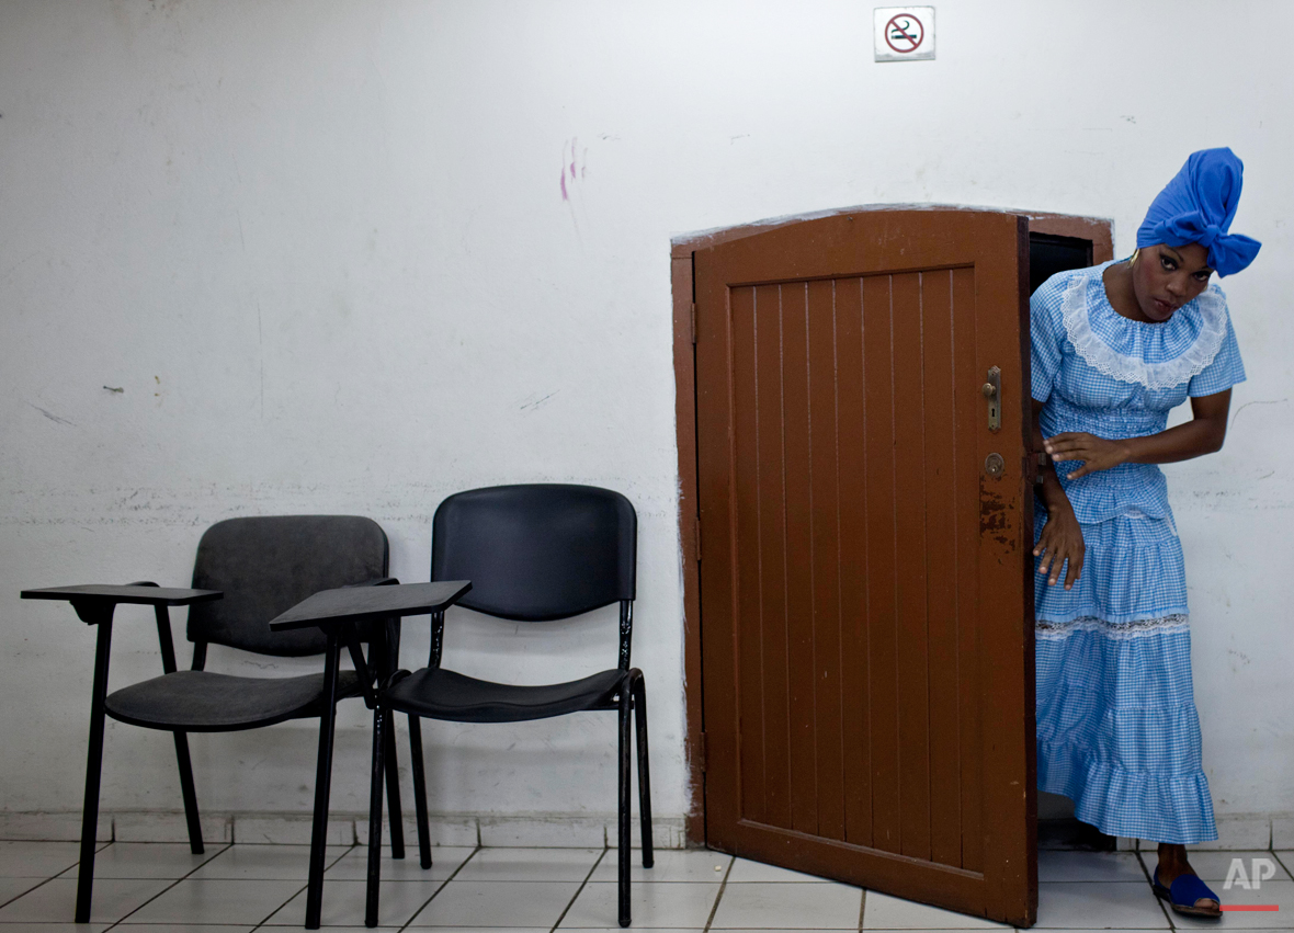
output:
[[960, 731], [961, 867], [983, 871], [981, 822], [983, 761], [980, 732], [980, 467], [976, 450], [983, 399], [974, 392], [985, 374], [976, 370], [974, 270], [952, 270], [952, 369], [956, 379], [954, 472], [958, 542], [958, 709]]

